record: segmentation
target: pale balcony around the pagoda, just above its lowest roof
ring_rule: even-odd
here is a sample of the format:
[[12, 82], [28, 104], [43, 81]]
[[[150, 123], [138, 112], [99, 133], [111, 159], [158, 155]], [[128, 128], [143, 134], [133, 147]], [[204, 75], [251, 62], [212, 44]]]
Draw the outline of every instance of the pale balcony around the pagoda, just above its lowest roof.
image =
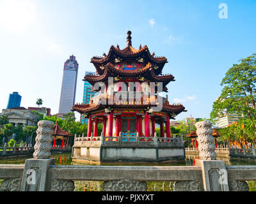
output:
[[[118, 94], [118, 96], [116, 96]], [[168, 102], [167, 98], [156, 96], [150, 92], [113, 91], [100, 94], [91, 98], [89, 104], [113, 104], [113, 105], [157, 105]]]

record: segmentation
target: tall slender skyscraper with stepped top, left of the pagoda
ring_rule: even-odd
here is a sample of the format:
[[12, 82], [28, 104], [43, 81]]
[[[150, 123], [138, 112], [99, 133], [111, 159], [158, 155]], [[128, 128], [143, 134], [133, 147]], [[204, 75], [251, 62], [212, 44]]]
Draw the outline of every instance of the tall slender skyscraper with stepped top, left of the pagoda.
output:
[[63, 78], [60, 94], [60, 107], [58, 115], [65, 115], [71, 112], [76, 98], [78, 63], [74, 55], [64, 63]]

